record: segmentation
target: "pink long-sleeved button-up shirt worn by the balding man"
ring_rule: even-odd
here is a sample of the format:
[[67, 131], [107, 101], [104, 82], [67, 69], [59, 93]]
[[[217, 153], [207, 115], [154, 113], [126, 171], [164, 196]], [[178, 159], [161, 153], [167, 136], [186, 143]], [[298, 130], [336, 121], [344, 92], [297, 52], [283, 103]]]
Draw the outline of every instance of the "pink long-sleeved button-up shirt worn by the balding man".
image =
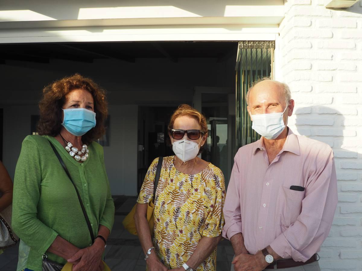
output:
[[[302, 186], [303, 192], [290, 186]], [[268, 245], [282, 258], [307, 261], [320, 250], [337, 206], [333, 152], [291, 129], [269, 164], [263, 138], [235, 155], [222, 235], [243, 233], [250, 254]]]

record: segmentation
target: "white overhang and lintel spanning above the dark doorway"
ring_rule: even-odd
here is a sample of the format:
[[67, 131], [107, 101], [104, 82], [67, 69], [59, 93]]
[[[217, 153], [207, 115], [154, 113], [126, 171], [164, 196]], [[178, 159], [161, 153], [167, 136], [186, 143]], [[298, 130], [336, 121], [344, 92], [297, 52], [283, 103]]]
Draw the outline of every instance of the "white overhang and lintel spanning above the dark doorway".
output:
[[71, 1], [69, 7], [62, 3], [52, 9], [5, 6], [8, 10], [0, 10], [0, 43], [240, 40], [240, 34], [248, 40], [274, 39], [284, 18], [282, 0], [226, 2], [189, 1], [185, 7], [75, 7]]

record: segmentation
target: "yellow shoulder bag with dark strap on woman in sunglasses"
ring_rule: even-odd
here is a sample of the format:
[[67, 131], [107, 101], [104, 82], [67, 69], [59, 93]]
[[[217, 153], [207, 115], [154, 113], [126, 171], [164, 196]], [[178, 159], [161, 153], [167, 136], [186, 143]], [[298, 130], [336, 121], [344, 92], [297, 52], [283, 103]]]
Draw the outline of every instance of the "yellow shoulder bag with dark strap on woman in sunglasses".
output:
[[[161, 163], [160, 163], [160, 161], [161, 161]], [[157, 164], [157, 171], [156, 171], [156, 177], [155, 177], [155, 188], [153, 188], [153, 198], [152, 198], [152, 201], [150, 203], [148, 203], [148, 206], [147, 206], [147, 220], [148, 220], [148, 226], [150, 227], [151, 235], [153, 232], [153, 209], [155, 209], [155, 205], [153, 203], [155, 202], [156, 189], [157, 189], [158, 181], [160, 179], [162, 162], [163, 162], [163, 157], [160, 156], [159, 163]], [[131, 212], [122, 221], [122, 224], [125, 227], [125, 229], [133, 235], [137, 235], [136, 223], [134, 220], [134, 215], [136, 213], [136, 205], [137, 205], [137, 203], [135, 204], [135, 206], [133, 206]]]

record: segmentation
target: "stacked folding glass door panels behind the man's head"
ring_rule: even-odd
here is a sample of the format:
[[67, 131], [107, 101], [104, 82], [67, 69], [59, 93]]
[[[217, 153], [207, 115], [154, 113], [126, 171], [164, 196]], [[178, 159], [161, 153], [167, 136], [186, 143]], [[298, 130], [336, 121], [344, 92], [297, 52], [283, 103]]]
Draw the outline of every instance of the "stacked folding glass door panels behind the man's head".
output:
[[237, 149], [260, 138], [251, 127], [246, 95], [254, 81], [274, 79], [274, 41], [239, 42], [236, 57], [236, 146]]

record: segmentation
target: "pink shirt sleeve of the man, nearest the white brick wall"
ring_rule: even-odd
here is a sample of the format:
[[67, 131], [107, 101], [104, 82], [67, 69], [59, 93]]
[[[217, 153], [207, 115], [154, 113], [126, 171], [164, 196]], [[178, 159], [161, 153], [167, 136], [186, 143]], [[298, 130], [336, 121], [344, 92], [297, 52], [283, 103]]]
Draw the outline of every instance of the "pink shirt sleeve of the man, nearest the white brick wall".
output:
[[307, 182], [302, 212], [295, 223], [279, 235], [270, 247], [282, 258], [306, 262], [318, 252], [331, 229], [337, 207], [337, 177], [333, 152]]

